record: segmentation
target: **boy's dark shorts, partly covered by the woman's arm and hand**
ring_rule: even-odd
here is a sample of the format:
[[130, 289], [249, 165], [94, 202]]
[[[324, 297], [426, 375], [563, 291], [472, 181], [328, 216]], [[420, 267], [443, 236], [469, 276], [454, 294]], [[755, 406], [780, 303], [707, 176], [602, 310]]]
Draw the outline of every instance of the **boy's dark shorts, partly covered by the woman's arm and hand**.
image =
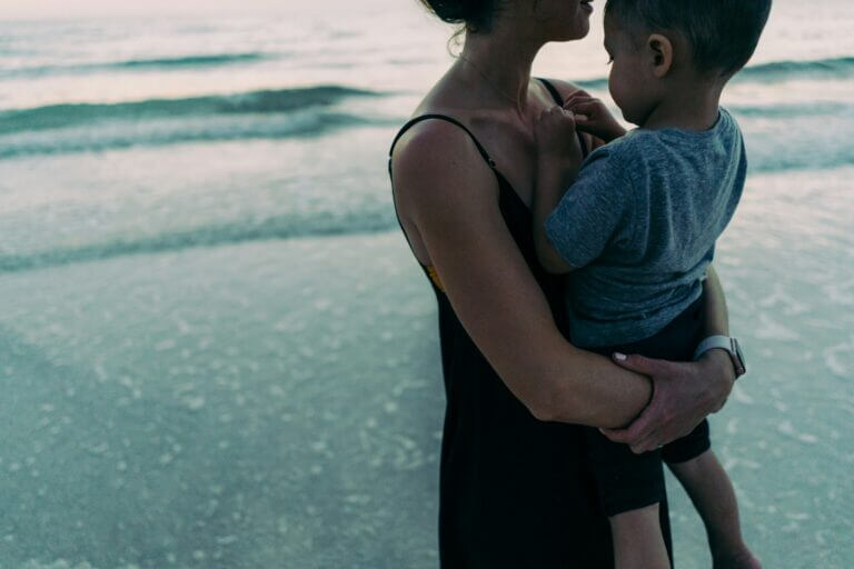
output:
[[[703, 339], [703, 306], [701, 296], [662, 331], [635, 343], [594, 348], [592, 351], [610, 356], [639, 353], [649, 358], [691, 361], [694, 349]], [[598, 429], [585, 428], [590, 468], [605, 513], [636, 510], [661, 502], [665, 498], [662, 461], [685, 462], [708, 450], [708, 422], [703, 421], [691, 433], [663, 448], [635, 455], [627, 445], [605, 438]]]

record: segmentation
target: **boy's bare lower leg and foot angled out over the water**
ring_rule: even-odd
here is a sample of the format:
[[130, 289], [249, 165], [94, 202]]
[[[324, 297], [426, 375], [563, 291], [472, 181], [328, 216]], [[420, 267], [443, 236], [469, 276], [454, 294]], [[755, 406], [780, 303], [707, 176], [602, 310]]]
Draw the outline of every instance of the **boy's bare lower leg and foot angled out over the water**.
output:
[[762, 569], [742, 538], [735, 491], [711, 450], [687, 462], [667, 465], [703, 518], [715, 569]]

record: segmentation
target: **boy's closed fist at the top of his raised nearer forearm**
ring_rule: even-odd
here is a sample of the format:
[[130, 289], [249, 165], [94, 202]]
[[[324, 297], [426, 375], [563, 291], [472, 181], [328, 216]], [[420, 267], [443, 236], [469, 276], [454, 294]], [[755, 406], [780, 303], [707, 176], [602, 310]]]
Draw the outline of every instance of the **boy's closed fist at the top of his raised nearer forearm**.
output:
[[562, 181], [572, 181], [584, 159], [573, 113], [560, 107], [546, 109], [539, 114], [534, 133], [540, 171], [552, 170]]

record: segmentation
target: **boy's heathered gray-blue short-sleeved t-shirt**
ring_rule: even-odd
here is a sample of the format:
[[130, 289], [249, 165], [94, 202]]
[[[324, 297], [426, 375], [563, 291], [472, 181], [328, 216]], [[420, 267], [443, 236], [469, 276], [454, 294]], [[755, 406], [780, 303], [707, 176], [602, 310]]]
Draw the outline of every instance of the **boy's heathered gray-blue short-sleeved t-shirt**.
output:
[[546, 220], [567, 278], [573, 343], [635, 342], [699, 298], [747, 161], [733, 117], [703, 132], [637, 129], [596, 149]]

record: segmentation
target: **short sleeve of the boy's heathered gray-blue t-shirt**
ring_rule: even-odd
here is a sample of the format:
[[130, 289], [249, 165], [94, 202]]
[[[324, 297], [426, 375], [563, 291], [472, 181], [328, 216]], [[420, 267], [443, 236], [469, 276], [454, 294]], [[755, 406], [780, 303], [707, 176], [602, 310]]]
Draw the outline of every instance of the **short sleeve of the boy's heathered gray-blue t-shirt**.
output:
[[[605, 150], [605, 149], [603, 149]], [[617, 232], [629, 232], [632, 184], [618, 156], [597, 151], [585, 162], [546, 219], [546, 236], [568, 264], [582, 268], [602, 256]]]

